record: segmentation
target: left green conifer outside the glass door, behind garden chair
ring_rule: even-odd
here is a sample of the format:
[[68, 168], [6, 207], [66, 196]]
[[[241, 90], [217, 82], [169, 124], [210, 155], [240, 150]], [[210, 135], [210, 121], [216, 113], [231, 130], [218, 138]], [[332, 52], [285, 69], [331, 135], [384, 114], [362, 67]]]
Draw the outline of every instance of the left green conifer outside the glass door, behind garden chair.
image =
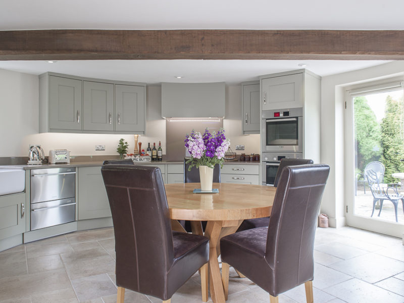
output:
[[357, 167], [363, 172], [369, 162], [379, 161], [381, 158], [381, 132], [376, 115], [369, 107], [366, 97], [355, 97], [354, 109]]

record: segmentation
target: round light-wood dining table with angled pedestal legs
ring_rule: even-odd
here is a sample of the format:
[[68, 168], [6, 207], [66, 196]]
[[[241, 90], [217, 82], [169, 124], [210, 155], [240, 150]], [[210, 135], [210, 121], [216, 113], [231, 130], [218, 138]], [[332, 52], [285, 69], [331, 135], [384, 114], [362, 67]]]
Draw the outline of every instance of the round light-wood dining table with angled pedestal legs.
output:
[[[244, 219], [270, 216], [276, 188], [236, 183], [213, 183], [219, 193], [193, 193], [199, 183], [166, 184], [165, 188], [173, 230], [184, 231], [177, 220], [190, 220], [193, 233], [209, 238], [211, 297], [214, 303], [224, 303], [218, 262], [220, 238], [234, 233]], [[200, 221], [208, 221], [205, 233]], [[208, 300], [208, 293], [203, 294], [203, 300]]]

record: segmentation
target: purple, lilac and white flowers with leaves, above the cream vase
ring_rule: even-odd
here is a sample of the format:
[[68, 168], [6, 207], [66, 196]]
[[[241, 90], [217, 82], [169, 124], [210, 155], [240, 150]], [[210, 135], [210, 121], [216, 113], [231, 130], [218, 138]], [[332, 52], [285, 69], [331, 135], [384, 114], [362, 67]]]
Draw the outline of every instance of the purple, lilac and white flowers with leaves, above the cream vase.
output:
[[226, 139], [224, 129], [210, 133], [207, 128], [203, 135], [192, 130], [190, 135], [186, 134], [184, 142], [191, 154], [191, 158], [186, 162], [190, 163], [189, 170], [193, 166], [196, 168], [202, 165], [210, 168], [214, 168], [216, 164], [223, 166], [224, 153], [230, 146], [230, 140]]

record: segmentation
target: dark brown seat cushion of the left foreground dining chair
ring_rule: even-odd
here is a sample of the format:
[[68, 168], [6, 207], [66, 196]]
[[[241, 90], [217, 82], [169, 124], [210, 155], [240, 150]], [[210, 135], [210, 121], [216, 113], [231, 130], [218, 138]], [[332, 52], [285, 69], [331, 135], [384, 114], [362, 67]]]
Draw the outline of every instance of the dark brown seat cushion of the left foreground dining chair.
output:
[[178, 259], [186, 252], [192, 249], [205, 250], [205, 246], [209, 241], [207, 237], [194, 235], [185, 232], [173, 231], [174, 258]]

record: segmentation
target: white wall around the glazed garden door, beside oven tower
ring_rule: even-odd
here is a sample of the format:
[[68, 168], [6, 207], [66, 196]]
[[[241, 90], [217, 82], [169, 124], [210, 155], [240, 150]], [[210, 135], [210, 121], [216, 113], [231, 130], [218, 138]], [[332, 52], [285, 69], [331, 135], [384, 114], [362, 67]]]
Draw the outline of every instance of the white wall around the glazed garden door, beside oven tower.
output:
[[321, 162], [330, 165], [321, 212], [329, 216], [330, 226], [345, 225], [344, 192], [344, 87], [403, 74], [404, 62], [322, 78], [321, 83]]

